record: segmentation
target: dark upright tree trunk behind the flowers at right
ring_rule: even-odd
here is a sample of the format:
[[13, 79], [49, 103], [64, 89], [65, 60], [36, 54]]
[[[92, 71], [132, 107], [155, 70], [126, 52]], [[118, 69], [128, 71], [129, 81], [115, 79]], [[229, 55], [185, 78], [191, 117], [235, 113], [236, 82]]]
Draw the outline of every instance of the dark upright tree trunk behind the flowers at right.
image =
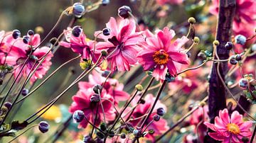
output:
[[[217, 46], [217, 54], [220, 59], [228, 59], [229, 51], [225, 49], [225, 43], [230, 41], [232, 33], [233, 18], [235, 15], [235, 0], [220, 0], [218, 11], [218, 24], [215, 39], [220, 42]], [[215, 57], [216, 59], [216, 57]], [[225, 79], [228, 72], [228, 62], [220, 62], [220, 74]], [[225, 87], [218, 78], [217, 63], [213, 63], [210, 71], [208, 88], [208, 106], [210, 122], [214, 123], [214, 118], [218, 116], [219, 110], [226, 108]], [[206, 137], [210, 139], [210, 137]], [[207, 142], [215, 142], [213, 139]]]

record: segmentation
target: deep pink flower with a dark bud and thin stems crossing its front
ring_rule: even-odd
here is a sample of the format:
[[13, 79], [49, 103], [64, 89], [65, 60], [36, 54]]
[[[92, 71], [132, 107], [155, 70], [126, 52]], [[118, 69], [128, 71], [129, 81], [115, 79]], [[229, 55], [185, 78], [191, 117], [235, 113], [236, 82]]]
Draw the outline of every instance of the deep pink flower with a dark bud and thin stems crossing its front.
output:
[[[78, 84], [79, 88], [82, 86], [81, 83]], [[102, 90], [102, 93], [100, 94], [100, 97], [102, 100], [98, 102], [98, 112], [97, 112], [97, 103], [91, 102], [90, 98], [94, 95], [94, 91], [92, 88], [80, 88], [78, 93], [76, 93], [75, 96], [73, 96], [73, 103], [70, 105], [70, 113], [74, 113], [75, 110], [82, 110], [85, 113], [85, 117], [87, 120], [89, 120], [92, 123], [95, 123], [95, 125], [100, 125], [100, 122], [103, 121], [103, 111], [100, 105], [100, 102], [103, 105], [104, 113], [105, 113], [105, 118], [107, 121], [114, 120], [115, 114], [114, 114], [114, 108], [112, 107], [112, 104], [110, 101], [114, 101], [113, 98], [106, 93], [105, 90]], [[104, 100], [108, 99], [110, 101]], [[95, 122], [95, 116], [97, 113], [97, 120]], [[82, 122], [78, 125], [78, 127], [87, 127], [88, 122], [87, 120], [83, 119]]]

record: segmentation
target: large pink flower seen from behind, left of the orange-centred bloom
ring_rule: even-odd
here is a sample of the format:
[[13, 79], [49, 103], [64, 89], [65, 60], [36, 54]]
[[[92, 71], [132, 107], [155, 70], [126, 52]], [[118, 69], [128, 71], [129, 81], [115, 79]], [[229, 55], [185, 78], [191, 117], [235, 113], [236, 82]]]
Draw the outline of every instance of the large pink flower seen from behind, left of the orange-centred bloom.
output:
[[[110, 28], [110, 35], [100, 34], [98, 37], [105, 42], [97, 43], [97, 50], [106, 50], [107, 61], [111, 64], [111, 71], [129, 71], [130, 66], [137, 63], [136, 55], [139, 52], [138, 40], [142, 39], [141, 33], [135, 32], [136, 25], [132, 19], [122, 19], [117, 23], [114, 18], [106, 24]], [[97, 31], [97, 36], [101, 31]]]

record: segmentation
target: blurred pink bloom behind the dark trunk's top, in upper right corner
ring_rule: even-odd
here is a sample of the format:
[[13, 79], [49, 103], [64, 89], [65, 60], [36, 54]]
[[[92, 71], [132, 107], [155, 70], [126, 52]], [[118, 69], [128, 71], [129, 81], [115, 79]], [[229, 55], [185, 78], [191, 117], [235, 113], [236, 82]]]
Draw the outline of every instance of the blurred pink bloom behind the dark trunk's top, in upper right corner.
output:
[[[235, 18], [233, 22], [233, 31], [235, 35], [242, 34], [250, 37], [254, 33], [256, 27], [256, 3], [255, 0], [237, 0], [235, 8]], [[210, 13], [218, 15], [219, 0], [213, 1], [210, 6]]]

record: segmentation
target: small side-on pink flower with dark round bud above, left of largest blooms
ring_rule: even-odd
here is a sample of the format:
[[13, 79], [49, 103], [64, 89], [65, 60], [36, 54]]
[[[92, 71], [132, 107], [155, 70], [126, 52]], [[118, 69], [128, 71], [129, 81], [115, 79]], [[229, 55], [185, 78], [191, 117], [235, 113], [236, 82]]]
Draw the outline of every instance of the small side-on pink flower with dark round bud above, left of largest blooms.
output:
[[[72, 28], [64, 30], [65, 40], [67, 42], [61, 41], [60, 45], [63, 47], [70, 47], [73, 52], [82, 55], [82, 59], [92, 59], [95, 62], [97, 60], [98, 54], [93, 55], [93, 47], [95, 45], [94, 40], [89, 40], [86, 38], [85, 33], [81, 31], [78, 37], [72, 34]], [[95, 51], [97, 52], [97, 51]], [[98, 52], [97, 52], [98, 53]]]

